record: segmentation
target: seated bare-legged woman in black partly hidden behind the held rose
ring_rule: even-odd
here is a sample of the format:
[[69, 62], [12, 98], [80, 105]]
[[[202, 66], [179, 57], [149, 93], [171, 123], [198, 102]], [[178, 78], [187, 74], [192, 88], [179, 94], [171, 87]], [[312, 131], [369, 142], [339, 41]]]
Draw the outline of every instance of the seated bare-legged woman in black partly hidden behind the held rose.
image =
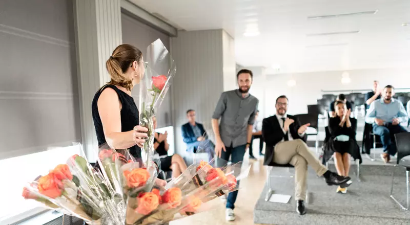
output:
[[[157, 128], [157, 120], [154, 117], [154, 129]], [[161, 169], [163, 171], [172, 171], [172, 177], [178, 177], [183, 171], [187, 169], [187, 164], [183, 161], [179, 154], [168, 155], [168, 149], [170, 145], [167, 141], [168, 133], [157, 133], [155, 132], [154, 148], [159, 156], [161, 162]]]

